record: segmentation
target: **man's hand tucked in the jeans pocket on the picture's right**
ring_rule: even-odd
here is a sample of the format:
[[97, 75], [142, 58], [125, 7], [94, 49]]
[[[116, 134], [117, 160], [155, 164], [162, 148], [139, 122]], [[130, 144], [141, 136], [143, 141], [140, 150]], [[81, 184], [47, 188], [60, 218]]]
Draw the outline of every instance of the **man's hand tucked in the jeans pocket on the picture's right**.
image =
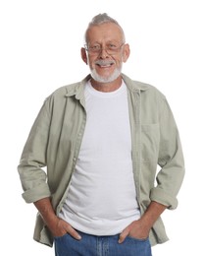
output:
[[127, 236], [136, 239], [146, 239], [149, 235], [149, 230], [150, 227], [144, 224], [142, 220], [134, 221], [120, 234], [119, 243], [123, 243]]

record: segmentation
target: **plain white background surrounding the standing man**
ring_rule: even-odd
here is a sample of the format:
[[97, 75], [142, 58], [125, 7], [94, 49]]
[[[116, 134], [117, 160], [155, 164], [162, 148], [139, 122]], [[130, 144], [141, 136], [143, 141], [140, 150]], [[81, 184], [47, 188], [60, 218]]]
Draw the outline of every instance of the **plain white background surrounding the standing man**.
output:
[[127, 34], [124, 73], [164, 93], [179, 126], [186, 175], [179, 208], [163, 214], [170, 241], [153, 247], [153, 256], [205, 255], [203, 0], [0, 2], [0, 250], [54, 255], [32, 240], [36, 211], [22, 199], [17, 165], [44, 98], [88, 73], [79, 49], [88, 22], [102, 12]]

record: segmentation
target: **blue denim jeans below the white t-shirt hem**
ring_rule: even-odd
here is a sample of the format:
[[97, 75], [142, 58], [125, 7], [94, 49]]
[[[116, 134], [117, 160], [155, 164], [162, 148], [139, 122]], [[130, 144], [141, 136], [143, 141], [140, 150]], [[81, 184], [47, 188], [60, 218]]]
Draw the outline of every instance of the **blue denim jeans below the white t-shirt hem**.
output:
[[81, 240], [70, 234], [55, 238], [56, 256], [151, 256], [149, 239], [127, 237], [119, 244], [119, 235], [96, 236], [78, 231]]

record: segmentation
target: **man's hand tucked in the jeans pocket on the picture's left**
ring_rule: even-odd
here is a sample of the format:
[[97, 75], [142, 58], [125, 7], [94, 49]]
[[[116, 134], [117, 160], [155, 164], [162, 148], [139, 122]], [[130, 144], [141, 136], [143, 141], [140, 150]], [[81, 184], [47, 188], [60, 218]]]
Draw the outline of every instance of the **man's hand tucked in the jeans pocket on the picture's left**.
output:
[[54, 236], [63, 236], [64, 234], [69, 233], [77, 240], [81, 239], [81, 236], [77, 233], [77, 231], [71, 224], [68, 224], [67, 222], [59, 218], [55, 220], [55, 223], [52, 224], [50, 230]]

